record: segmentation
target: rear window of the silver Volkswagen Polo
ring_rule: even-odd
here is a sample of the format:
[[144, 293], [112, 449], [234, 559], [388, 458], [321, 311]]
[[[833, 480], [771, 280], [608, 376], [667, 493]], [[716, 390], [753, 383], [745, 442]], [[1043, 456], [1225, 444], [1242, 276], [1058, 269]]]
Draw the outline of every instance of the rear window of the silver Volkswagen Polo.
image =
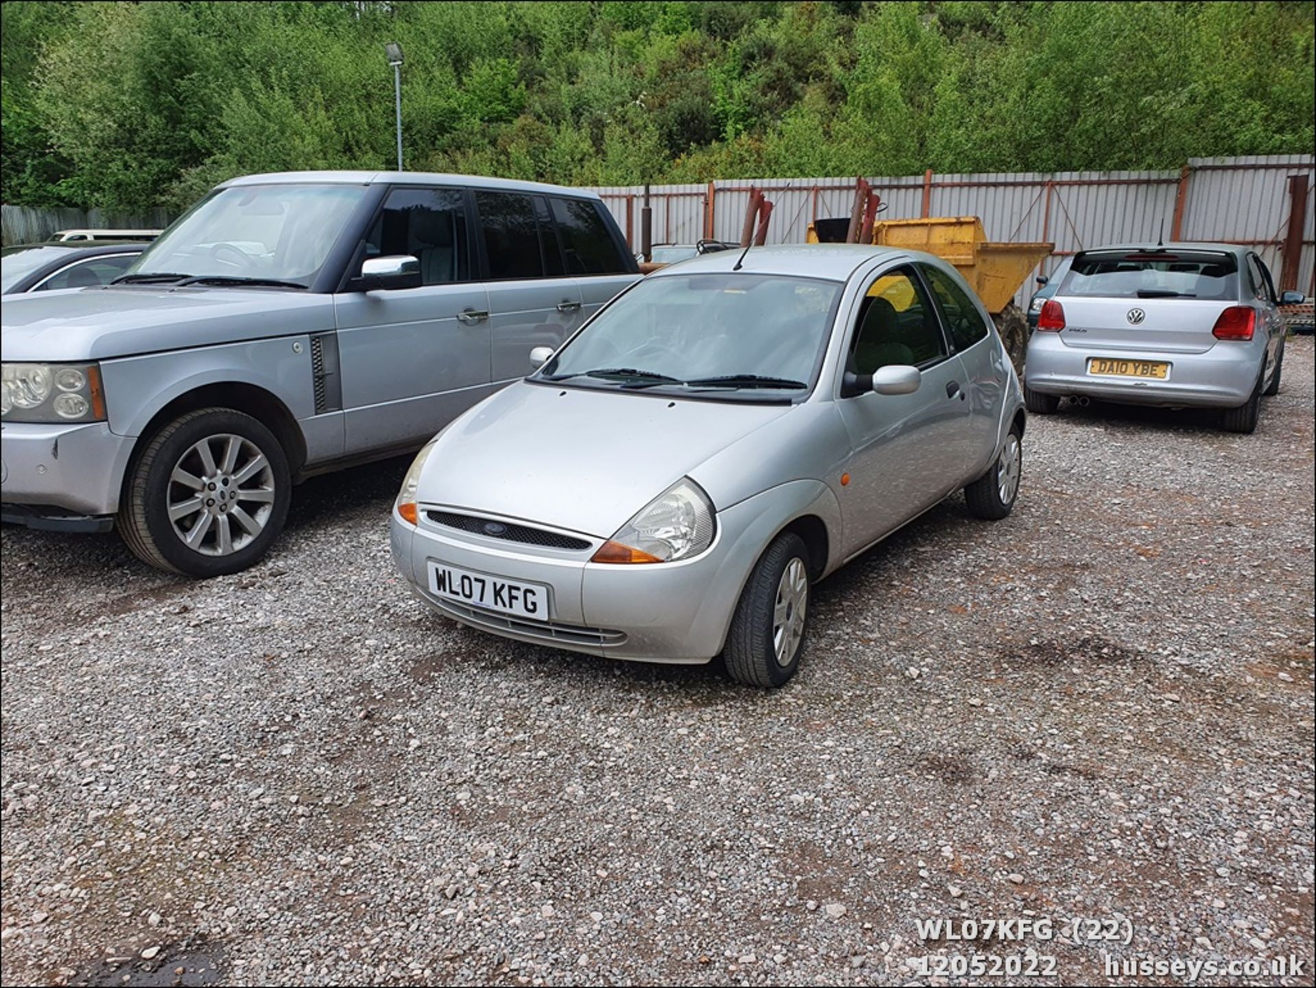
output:
[[1074, 257], [1057, 295], [1236, 300], [1238, 262], [1224, 251], [1090, 250]]

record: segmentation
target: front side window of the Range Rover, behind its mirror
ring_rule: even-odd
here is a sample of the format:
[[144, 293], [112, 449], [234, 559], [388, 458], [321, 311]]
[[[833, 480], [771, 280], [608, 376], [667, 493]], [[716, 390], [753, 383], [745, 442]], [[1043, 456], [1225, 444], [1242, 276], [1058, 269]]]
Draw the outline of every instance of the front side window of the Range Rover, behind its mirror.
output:
[[411, 254], [421, 284], [471, 278], [465, 195], [455, 188], [395, 188], [366, 235], [366, 257]]

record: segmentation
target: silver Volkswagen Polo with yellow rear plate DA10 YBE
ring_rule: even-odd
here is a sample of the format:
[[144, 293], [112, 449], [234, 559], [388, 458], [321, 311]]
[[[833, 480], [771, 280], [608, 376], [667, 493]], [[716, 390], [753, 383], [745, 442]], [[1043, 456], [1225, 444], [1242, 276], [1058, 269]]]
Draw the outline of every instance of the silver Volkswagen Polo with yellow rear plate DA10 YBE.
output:
[[1229, 243], [1101, 247], [1076, 254], [1042, 303], [1028, 343], [1028, 410], [1062, 397], [1219, 408], [1221, 425], [1257, 428], [1279, 392], [1284, 318], [1257, 254]]

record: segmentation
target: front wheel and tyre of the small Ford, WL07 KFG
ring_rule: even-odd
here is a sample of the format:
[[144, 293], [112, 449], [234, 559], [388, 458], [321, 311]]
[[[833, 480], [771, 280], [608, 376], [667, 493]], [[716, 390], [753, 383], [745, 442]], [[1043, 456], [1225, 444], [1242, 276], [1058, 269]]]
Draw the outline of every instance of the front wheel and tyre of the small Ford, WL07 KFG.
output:
[[754, 687], [786, 685], [800, 666], [808, 630], [809, 554], [784, 531], [772, 539], [741, 592], [726, 634], [732, 679]]

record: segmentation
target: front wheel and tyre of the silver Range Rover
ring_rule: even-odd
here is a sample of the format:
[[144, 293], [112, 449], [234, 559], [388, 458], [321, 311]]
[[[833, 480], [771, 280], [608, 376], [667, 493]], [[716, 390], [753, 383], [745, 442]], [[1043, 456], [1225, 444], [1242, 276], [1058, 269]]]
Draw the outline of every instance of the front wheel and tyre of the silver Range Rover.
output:
[[118, 530], [138, 559], [188, 576], [245, 570], [288, 516], [283, 446], [230, 408], [203, 408], [164, 425], [129, 468]]

